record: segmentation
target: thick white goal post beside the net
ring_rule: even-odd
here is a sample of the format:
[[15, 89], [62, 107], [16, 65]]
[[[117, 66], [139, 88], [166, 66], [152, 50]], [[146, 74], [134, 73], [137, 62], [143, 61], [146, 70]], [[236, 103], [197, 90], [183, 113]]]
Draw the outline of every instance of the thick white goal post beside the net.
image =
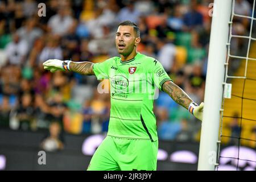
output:
[[224, 89], [225, 60], [229, 38], [232, 0], [214, 0], [205, 83], [198, 170], [214, 171], [217, 166], [220, 109]]

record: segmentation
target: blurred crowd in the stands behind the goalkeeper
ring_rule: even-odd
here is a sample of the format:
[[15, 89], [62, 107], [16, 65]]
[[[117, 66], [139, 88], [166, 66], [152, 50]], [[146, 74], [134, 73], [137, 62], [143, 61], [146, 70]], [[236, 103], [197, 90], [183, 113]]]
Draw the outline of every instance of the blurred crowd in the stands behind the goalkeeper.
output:
[[[114, 39], [123, 20], [141, 29], [138, 51], [160, 61], [175, 84], [200, 104], [212, 2], [48, 0], [43, 10], [40, 1], [0, 1], [0, 127], [36, 132], [58, 130], [58, 123], [69, 134], [107, 132], [110, 97], [97, 92], [96, 77], [51, 73], [42, 63], [48, 59], [98, 63], [119, 56]], [[235, 10], [250, 15], [251, 4], [237, 0]], [[238, 18], [233, 26], [243, 35], [249, 22]], [[233, 41], [232, 51], [242, 51], [243, 42]], [[199, 139], [200, 121], [168, 94], [160, 92], [154, 105], [159, 139]]]

